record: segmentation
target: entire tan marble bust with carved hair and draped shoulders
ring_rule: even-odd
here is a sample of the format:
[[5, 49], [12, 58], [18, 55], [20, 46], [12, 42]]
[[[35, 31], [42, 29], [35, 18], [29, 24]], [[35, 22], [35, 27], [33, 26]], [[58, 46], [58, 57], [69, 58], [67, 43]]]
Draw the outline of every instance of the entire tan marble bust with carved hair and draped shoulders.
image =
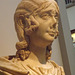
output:
[[54, 0], [22, 0], [14, 14], [17, 52], [0, 57], [0, 75], [65, 75], [63, 68], [50, 60], [58, 19]]

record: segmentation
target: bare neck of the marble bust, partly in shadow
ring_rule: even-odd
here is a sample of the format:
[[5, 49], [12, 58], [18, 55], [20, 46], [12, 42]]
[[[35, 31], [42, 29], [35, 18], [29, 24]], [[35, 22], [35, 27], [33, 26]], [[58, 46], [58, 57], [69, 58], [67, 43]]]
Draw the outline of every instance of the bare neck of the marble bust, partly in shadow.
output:
[[34, 44], [30, 44], [30, 59], [36, 61], [37, 63], [46, 63], [46, 47], [39, 47]]

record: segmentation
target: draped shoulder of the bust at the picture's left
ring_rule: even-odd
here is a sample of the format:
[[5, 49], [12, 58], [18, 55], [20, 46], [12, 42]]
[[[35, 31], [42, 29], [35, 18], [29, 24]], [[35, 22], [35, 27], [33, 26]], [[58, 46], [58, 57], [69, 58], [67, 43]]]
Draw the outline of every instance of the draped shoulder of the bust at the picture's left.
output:
[[12, 59], [10, 59], [10, 56], [0, 57], [0, 74], [24, 75], [28, 73], [28, 71], [22, 67], [21, 61], [18, 61], [14, 56], [11, 56], [11, 58]]

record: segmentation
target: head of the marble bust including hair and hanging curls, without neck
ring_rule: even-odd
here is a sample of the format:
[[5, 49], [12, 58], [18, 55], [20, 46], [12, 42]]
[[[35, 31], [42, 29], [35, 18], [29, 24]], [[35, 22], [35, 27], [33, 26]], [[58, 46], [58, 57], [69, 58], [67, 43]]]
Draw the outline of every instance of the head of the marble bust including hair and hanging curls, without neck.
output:
[[54, 0], [22, 0], [14, 14], [17, 57], [30, 55], [29, 45], [46, 47], [46, 60], [51, 57], [51, 44], [58, 36], [59, 8]]

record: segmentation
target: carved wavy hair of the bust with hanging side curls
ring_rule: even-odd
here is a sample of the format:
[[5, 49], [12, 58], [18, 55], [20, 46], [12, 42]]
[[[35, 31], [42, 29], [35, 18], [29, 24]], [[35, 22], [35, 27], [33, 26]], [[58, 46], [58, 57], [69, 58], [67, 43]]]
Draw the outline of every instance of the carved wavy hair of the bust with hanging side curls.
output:
[[[57, 12], [59, 13], [59, 9], [57, 3], [54, 0], [22, 0], [18, 5], [16, 12], [14, 14], [15, 21], [15, 29], [17, 32], [17, 36], [19, 42], [16, 43], [17, 53], [16, 56], [21, 60], [25, 60], [29, 57], [29, 36], [32, 32], [36, 31], [39, 27], [39, 24], [34, 24], [32, 20], [30, 22], [30, 16], [32, 15], [34, 18], [36, 15], [40, 15], [40, 12], [49, 7], [52, 3], [55, 4], [57, 8]], [[56, 34], [56, 37], [58, 32]], [[51, 45], [47, 46], [46, 59], [50, 59], [51, 57]]]

